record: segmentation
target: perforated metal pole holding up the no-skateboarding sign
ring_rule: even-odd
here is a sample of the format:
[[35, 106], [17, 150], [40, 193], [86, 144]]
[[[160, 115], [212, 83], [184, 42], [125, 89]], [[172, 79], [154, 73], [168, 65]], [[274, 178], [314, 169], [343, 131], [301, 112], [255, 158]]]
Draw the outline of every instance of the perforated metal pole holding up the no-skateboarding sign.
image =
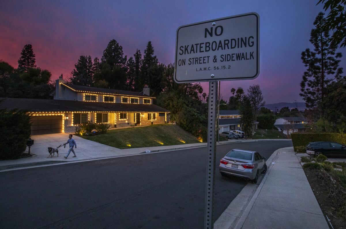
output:
[[216, 121], [217, 121], [217, 81], [209, 82], [208, 98], [208, 160], [207, 160], [207, 182], [206, 182], [206, 208], [204, 213], [204, 228], [213, 228], [213, 207], [214, 207], [214, 176], [216, 158]]

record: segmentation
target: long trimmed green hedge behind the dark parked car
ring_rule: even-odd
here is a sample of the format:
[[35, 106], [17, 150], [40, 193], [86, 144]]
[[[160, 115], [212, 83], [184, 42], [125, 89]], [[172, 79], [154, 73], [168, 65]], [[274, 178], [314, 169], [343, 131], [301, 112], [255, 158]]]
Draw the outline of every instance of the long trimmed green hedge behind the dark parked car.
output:
[[301, 146], [307, 146], [313, 141], [336, 141], [337, 143], [346, 145], [346, 134], [334, 133], [306, 133], [306, 134], [291, 134], [294, 151], [297, 151]]

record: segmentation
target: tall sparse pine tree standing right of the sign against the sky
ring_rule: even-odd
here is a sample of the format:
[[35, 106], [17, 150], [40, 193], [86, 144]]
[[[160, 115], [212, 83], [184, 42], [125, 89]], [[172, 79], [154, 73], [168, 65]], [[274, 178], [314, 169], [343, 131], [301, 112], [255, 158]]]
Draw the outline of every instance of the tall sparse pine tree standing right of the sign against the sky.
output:
[[[323, 100], [325, 97], [325, 87], [333, 79], [339, 79], [343, 73], [343, 68], [339, 68], [338, 58], [341, 53], [336, 53], [338, 44], [330, 41], [329, 30], [323, 25], [326, 19], [324, 13], [320, 12], [311, 30], [310, 42], [315, 47], [313, 51], [307, 48], [301, 54], [301, 59], [307, 71], [304, 72], [300, 83], [301, 93], [307, 108], [317, 108], [319, 115], [323, 114]], [[332, 79], [328, 79], [330, 75]]]

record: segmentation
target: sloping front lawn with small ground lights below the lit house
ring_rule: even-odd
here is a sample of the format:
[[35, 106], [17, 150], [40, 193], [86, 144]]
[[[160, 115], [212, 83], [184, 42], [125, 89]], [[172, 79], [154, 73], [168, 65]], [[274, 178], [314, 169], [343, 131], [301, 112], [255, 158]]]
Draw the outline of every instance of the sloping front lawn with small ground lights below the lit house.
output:
[[119, 149], [200, 143], [193, 135], [173, 124], [108, 130], [107, 134], [80, 136]]

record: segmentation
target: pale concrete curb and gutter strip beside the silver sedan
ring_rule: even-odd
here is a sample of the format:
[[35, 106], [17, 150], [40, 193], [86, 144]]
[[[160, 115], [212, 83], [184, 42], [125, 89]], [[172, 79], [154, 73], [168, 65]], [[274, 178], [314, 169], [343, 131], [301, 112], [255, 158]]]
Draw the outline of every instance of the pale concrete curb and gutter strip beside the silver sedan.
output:
[[[272, 162], [275, 161], [279, 151], [284, 148], [280, 148], [274, 151], [274, 153], [267, 159], [266, 164], [268, 170], [266, 174], [257, 184], [248, 183], [240, 191], [240, 193], [234, 198], [234, 200], [228, 205], [227, 209], [221, 214], [221, 216], [215, 221], [214, 228], [218, 229], [231, 229], [242, 228], [248, 214], [250, 213], [255, 200], [260, 194], [261, 189], [273, 168]], [[259, 185], [258, 185], [259, 183]], [[258, 185], [258, 186], [257, 186]]]

